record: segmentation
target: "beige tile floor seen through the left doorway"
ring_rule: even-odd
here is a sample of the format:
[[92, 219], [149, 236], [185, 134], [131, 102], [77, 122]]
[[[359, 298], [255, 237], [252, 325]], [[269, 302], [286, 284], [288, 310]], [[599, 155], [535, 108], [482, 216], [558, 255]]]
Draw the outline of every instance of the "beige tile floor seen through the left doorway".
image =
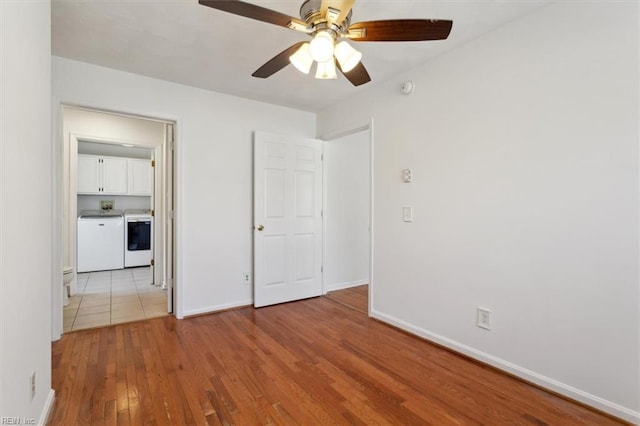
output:
[[63, 330], [75, 331], [167, 315], [167, 292], [151, 267], [77, 274], [78, 293], [64, 307]]

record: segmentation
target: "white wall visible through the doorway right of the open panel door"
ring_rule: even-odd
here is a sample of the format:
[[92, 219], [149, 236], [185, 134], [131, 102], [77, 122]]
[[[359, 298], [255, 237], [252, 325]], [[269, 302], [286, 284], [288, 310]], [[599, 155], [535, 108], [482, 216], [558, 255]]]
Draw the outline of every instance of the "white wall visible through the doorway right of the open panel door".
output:
[[323, 290], [369, 283], [370, 131], [324, 143]]

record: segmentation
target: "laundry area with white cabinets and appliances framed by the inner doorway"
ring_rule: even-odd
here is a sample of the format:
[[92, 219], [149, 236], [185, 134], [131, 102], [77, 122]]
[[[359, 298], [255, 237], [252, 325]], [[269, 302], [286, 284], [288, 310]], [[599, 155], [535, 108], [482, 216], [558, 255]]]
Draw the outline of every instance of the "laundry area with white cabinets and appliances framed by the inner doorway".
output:
[[78, 273], [151, 265], [152, 157], [149, 148], [78, 141]]

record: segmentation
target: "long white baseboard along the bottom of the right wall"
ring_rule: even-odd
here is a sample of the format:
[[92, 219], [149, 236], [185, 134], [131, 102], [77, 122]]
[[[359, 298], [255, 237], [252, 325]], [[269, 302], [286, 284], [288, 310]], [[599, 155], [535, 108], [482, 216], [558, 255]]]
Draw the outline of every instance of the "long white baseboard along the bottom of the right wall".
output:
[[407, 323], [406, 321], [395, 318], [391, 315], [384, 314], [375, 309], [371, 309], [370, 315], [371, 317], [378, 319], [382, 322], [386, 322], [390, 325], [393, 325], [394, 327], [398, 327], [402, 330], [408, 331], [409, 333], [415, 334], [416, 336], [420, 336], [424, 339], [427, 339], [431, 342], [437, 343], [438, 345], [449, 348], [455, 352], [464, 354], [470, 358], [473, 358], [485, 364], [489, 364], [500, 370], [513, 374], [514, 376], [520, 377], [521, 379], [524, 379], [528, 382], [534, 383], [540, 387], [549, 389], [550, 391], [556, 392], [560, 395], [566, 396], [575, 401], [589, 405], [593, 408], [604, 411], [605, 413], [609, 413], [613, 416], [619, 417], [621, 419], [632, 422], [634, 424], [640, 424], [640, 412], [631, 410], [627, 407], [623, 407], [614, 402], [607, 401], [603, 398], [592, 395], [588, 392], [584, 392], [580, 389], [576, 389], [572, 386], [569, 386], [565, 383], [561, 383], [550, 377], [543, 376], [534, 371], [528, 370], [524, 367], [520, 367], [518, 365], [512, 364], [503, 359], [494, 357], [493, 355], [489, 355], [487, 353], [481, 352], [470, 346], [456, 342], [455, 340], [446, 338], [444, 336], [440, 336], [436, 333], [432, 333], [420, 327], [416, 327], [412, 324]]

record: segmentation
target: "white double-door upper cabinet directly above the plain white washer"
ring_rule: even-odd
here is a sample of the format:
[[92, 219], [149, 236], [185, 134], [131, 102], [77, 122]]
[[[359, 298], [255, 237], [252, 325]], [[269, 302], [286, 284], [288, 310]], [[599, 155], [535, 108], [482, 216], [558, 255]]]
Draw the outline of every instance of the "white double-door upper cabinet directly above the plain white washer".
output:
[[128, 159], [78, 154], [78, 194], [126, 195]]

